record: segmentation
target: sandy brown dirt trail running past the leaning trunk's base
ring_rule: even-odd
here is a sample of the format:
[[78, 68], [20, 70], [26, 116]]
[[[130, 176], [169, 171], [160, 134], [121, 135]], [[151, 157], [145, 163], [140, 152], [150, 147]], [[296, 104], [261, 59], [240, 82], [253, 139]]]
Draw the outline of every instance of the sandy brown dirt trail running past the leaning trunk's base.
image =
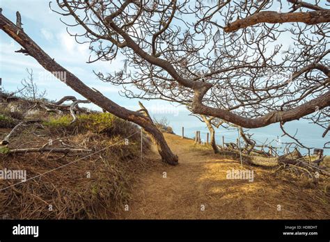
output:
[[[159, 162], [135, 185], [125, 219], [330, 218], [329, 197], [313, 187], [299, 188], [292, 177], [222, 159], [194, 148], [193, 140], [164, 134], [179, 155], [178, 166]], [[226, 179], [227, 170], [253, 170], [254, 181]], [[164, 178], [166, 172], [166, 178]], [[281, 211], [278, 211], [281, 206]], [[205, 208], [205, 209], [203, 209]]]

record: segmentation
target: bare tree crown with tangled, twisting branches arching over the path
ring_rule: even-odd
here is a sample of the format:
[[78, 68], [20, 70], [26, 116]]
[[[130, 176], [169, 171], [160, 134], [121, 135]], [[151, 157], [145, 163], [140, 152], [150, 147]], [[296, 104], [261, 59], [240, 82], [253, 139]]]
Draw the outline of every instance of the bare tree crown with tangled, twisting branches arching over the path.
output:
[[[327, 3], [288, 0], [290, 9], [266, 0], [57, 3], [58, 13], [84, 28], [72, 35], [90, 42], [96, 56], [90, 62], [125, 58], [123, 70], [97, 75], [123, 85], [127, 97], [179, 102], [247, 128], [315, 111], [329, 115]], [[283, 49], [279, 39], [292, 46]]]

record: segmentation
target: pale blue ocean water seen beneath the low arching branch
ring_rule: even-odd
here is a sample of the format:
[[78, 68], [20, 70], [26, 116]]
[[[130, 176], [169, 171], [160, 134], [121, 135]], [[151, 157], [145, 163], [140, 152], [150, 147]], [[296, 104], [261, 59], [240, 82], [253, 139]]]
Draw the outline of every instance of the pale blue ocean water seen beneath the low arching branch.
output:
[[[169, 126], [173, 128], [175, 134], [181, 135], [182, 127], [184, 127], [184, 136], [193, 138], [195, 136], [196, 131], [201, 131], [201, 138], [206, 140], [206, 135], [208, 129], [206, 125], [198, 120], [198, 118], [189, 115], [187, 112], [180, 112], [176, 114], [164, 114], [164, 113], [150, 113], [153, 118], [160, 119], [166, 118], [169, 122]], [[306, 147], [311, 148], [320, 148], [324, 150], [324, 154], [330, 155], [330, 149], [324, 148], [324, 143], [330, 141], [330, 134], [322, 138], [322, 134], [324, 129], [318, 127], [316, 124], [310, 124], [307, 120], [294, 120], [292, 122], [287, 122], [284, 124], [285, 131], [287, 131], [290, 135], [296, 134], [296, 138], [298, 138], [299, 142], [301, 142]], [[224, 136], [225, 143], [233, 142], [236, 143], [236, 139], [238, 138], [237, 129], [228, 130], [223, 127], [219, 129], [215, 129], [216, 131], [216, 142], [219, 145], [222, 145], [222, 136]], [[257, 145], [262, 145], [262, 143], [269, 143], [272, 141], [271, 145], [274, 147], [278, 147], [279, 154], [283, 154], [285, 144], [292, 142], [291, 138], [288, 136], [282, 136], [283, 132], [279, 127], [279, 124], [271, 124], [267, 127], [262, 127], [258, 129], [249, 129], [246, 131], [248, 134], [253, 134], [252, 138], [256, 140]], [[244, 141], [242, 138], [240, 139], [242, 145], [244, 145]], [[330, 147], [330, 145], [328, 145]], [[258, 148], [260, 149], [260, 148]], [[291, 146], [290, 150], [294, 149], [294, 145]], [[267, 149], [265, 149], [267, 151]], [[303, 148], [299, 148], [301, 154], [307, 154], [307, 150]], [[311, 150], [313, 154], [313, 149]]]

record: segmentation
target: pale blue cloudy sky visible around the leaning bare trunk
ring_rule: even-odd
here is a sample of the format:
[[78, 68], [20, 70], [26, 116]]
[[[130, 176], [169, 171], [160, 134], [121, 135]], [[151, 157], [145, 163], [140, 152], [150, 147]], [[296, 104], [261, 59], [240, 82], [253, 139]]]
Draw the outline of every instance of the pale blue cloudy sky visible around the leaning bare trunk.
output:
[[[56, 3], [53, 3], [53, 6], [55, 6], [55, 4]], [[44, 49], [49, 56], [52, 56], [56, 62], [78, 76], [81, 81], [84, 81], [88, 86], [100, 90], [104, 95], [121, 106], [132, 110], [139, 109], [137, 105], [138, 100], [120, 97], [118, 94], [120, 90], [119, 86], [111, 86], [109, 83], [103, 83], [93, 74], [93, 70], [95, 70], [95, 72], [101, 71], [104, 73], [120, 70], [123, 68], [123, 61], [117, 60], [111, 63], [97, 62], [87, 64], [86, 61], [88, 61], [90, 55], [88, 45], [78, 45], [74, 38], [68, 35], [65, 24], [59, 19], [60, 15], [49, 10], [49, 1], [0, 0], [0, 6], [3, 8], [3, 15], [8, 17], [12, 22], [15, 22], [15, 13], [18, 10], [22, 15], [24, 31]], [[65, 21], [67, 20], [68, 19], [65, 19]], [[283, 40], [281, 40], [281, 42], [285, 45], [290, 45], [292, 42], [292, 40], [285, 40], [285, 36], [282, 38]], [[84, 99], [84, 97], [81, 97], [77, 92], [74, 92], [74, 90], [66, 86], [65, 83], [54, 78], [49, 78], [48, 72], [40, 67], [33, 58], [15, 53], [15, 51], [21, 47], [9, 38], [6, 33], [3, 33], [3, 31], [0, 31], [0, 42], [0, 77], [2, 78], [2, 85], [5, 90], [16, 90], [20, 81], [27, 76], [26, 68], [31, 68], [33, 69], [34, 79], [38, 87], [47, 90], [47, 97], [49, 99], [61, 99], [61, 97], [65, 95], [74, 95], [79, 99]], [[170, 120], [170, 124], [172, 124], [174, 130], [178, 133], [182, 126], [187, 128], [187, 134], [189, 136], [192, 136], [193, 132], [198, 129], [205, 132], [207, 131], [205, 125], [198, 121], [197, 118], [189, 116], [188, 111], [183, 107], [175, 107], [168, 102], [155, 100], [150, 102], [143, 101], [143, 104], [149, 109], [153, 117], [161, 118], [166, 116], [168, 120]], [[97, 109], [95, 105], [91, 105], [90, 107]], [[289, 128], [292, 127], [294, 133], [299, 123], [292, 122], [292, 124], [288, 126]], [[309, 125], [308, 127], [310, 127], [309, 130], [311, 130], [311, 128], [313, 129], [313, 134], [306, 133], [307, 129], [304, 124], [301, 126], [301, 138], [306, 137], [308, 140], [308, 136], [313, 140], [311, 145], [320, 147], [321, 143], [324, 143], [324, 139], [320, 137], [322, 129], [315, 127], [315, 125]], [[219, 131], [219, 133], [221, 133], [221, 131]], [[278, 124], [263, 129], [256, 129], [252, 133], [260, 134], [258, 138], [261, 139], [261, 141], [268, 138], [266, 134], [272, 138], [281, 134], [278, 129]], [[265, 135], [262, 137], [262, 134]], [[236, 133], [230, 133], [230, 137], [231, 136], [235, 139]]]

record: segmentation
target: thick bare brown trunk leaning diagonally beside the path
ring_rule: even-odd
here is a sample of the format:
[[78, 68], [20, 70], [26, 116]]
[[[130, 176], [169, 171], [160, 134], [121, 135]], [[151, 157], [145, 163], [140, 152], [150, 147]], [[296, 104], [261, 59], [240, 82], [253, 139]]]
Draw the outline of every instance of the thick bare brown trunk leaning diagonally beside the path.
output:
[[123, 108], [122, 106], [119, 106], [115, 102], [111, 101], [111, 99], [108, 99], [102, 95], [100, 92], [86, 86], [80, 79], [77, 78], [77, 76], [74, 76], [74, 74], [56, 63], [54, 58], [48, 56], [45, 51], [43, 51], [36, 44], [36, 42], [29, 37], [29, 35], [26, 35], [22, 29], [18, 28], [15, 24], [13, 24], [13, 22], [10, 22], [10, 20], [1, 13], [0, 28], [7, 33], [10, 38], [13, 38], [13, 40], [19, 43], [19, 45], [22, 45], [22, 47], [26, 50], [26, 53], [35, 58], [36, 61], [38, 61], [38, 63], [45, 68], [45, 70], [51, 72], [57, 79], [63, 81], [80, 95], [84, 96], [86, 99], [90, 100], [97, 106], [100, 106], [109, 113], [116, 115], [118, 118], [134, 122], [143, 127], [143, 129], [145, 129], [152, 137], [152, 140], [155, 141], [157, 150], [162, 156], [162, 161], [171, 165], [178, 164], [178, 156], [173, 154], [168, 147], [162, 132], [159, 131], [155, 124], [152, 124], [146, 116], [139, 112], [130, 111]]

